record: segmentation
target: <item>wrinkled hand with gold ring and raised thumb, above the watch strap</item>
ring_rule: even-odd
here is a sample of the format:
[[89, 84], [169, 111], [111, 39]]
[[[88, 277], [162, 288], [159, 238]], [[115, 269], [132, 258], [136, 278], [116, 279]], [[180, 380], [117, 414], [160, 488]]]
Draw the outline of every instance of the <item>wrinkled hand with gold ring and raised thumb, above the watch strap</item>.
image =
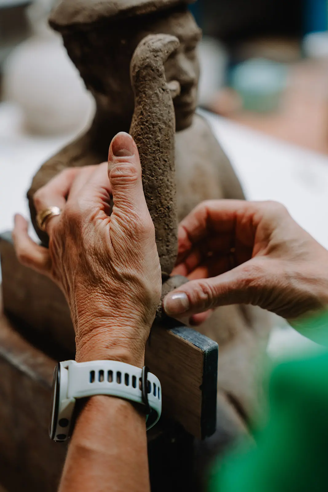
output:
[[161, 270], [133, 139], [119, 133], [108, 165], [63, 171], [35, 194], [34, 203], [37, 212], [62, 210], [47, 223], [49, 249], [30, 239], [26, 220], [17, 215], [16, 253], [62, 289], [76, 331], [76, 360], [143, 366]]

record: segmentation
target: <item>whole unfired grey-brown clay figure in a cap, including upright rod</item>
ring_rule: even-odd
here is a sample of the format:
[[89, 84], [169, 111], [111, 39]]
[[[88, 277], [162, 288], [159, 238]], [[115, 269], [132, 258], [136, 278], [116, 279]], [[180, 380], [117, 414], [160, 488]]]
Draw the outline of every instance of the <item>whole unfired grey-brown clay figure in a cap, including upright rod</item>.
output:
[[[97, 110], [89, 130], [46, 162], [34, 177], [28, 193], [34, 227], [34, 192], [68, 166], [107, 160], [111, 139], [118, 131], [129, 131], [134, 114], [131, 134], [141, 154], [144, 189], [157, 227], [162, 271], [170, 273], [176, 255], [177, 219], [205, 199], [243, 198], [238, 179], [208, 123], [195, 115], [199, 78], [196, 48], [201, 32], [187, 9], [187, 0], [62, 0], [50, 17], [50, 24], [61, 32], [70, 58], [95, 98]], [[149, 34], [169, 36], [142, 41]], [[156, 66], [144, 66], [140, 59], [143, 43], [148, 43], [148, 47], [150, 43], [156, 52], [158, 39], [164, 50], [157, 54], [162, 57], [162, 64], [168, 56], [164, 64], [166, 81], [164, 73], [156, 72]], [[130, 62], [135, 50], [131, 63], [136, 92], [134, 112]], [[175, 96], [175, 145], [169, 89]], [[144, 108], [148, 108], [147, 114]], [[160, 191], [157, 194], [152, 187], [154, 178]], [[163, 231], [158, 229], [161, 216]], [[46, 242], [47, 237], [37, 232]], [[158, 241], [160, 234], [169, 238], [166, 244]], [[222, 307], [199, 330], [219, 343], [218, 433], [223, 443], [246, 428], [256, 409], [255, 361], [259, 348], [267, 343], [268, 317], [250, 306]]]

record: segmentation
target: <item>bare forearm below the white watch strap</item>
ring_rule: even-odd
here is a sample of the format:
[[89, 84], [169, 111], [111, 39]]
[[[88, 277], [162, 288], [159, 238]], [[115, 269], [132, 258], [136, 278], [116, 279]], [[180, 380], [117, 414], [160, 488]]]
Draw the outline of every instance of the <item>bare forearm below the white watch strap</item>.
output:
[[149, 490], [145, 416], [119, 398], [90, 398], [76, 422], [59, 491]]

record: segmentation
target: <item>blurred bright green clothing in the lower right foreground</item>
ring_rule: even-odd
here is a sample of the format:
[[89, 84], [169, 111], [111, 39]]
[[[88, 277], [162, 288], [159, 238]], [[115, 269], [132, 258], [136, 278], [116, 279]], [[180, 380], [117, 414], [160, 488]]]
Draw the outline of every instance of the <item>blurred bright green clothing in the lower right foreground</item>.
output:
[[[327, 347], [327, 325], [322, 341], [324, 333]], [[327, 351], [280, 364], [268, 390], [268, 424], [255, 434], [257, 447], [240, 446], [217, 463], [209, 492], [328, 491]]]

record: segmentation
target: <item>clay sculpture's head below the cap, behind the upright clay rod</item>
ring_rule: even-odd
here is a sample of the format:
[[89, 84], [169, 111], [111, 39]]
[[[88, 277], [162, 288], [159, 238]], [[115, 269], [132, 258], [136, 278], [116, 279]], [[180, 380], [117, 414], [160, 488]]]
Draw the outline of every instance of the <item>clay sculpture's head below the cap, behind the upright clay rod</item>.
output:
[[176, 128], [188, 128], [197, 106], [199, 63], [197, 44], [201, 30], [187, 10], [156, 18], [103, 24], [85, 32], [64, 35], [68, 54], [78, 67], [87, 88], [105, 111], [124, 120], [131, 118], [134, 97], [130, 83], [130, 61], [139, 42], [148, 34], [173, 34], [180, 46], [165, 64], [167, 81], [178, 80], [181, 93], [174, 100]]

